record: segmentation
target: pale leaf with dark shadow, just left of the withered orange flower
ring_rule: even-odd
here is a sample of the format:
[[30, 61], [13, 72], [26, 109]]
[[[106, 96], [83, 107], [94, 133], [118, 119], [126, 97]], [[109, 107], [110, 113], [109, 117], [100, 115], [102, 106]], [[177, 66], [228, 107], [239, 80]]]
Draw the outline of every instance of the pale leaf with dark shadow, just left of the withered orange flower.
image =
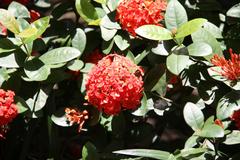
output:
[[51, 120], [58, 126], [62, 127], [70, 127], [73, 124], [68, 122], [67, 117], [65, 115], [65, 108], [59, 108], [54, 114], [51, 116]]

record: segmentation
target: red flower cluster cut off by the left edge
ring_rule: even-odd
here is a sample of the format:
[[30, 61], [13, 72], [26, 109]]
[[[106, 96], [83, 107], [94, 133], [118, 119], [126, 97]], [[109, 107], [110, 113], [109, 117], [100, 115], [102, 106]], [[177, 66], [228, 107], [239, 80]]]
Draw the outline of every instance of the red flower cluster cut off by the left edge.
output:
[[18, 114], [14, 96], [14, 92], [0, 89], [0, 126], [8, 124]]

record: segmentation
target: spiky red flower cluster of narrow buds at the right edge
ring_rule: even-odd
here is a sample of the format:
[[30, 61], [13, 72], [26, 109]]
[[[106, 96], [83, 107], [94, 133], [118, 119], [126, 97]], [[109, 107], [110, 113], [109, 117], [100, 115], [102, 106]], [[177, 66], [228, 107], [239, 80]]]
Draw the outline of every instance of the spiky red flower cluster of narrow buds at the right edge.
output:
[[211, 59], [212, 64], [221, 67], [220, 74], [228, 80], [236, 81], [240, 79], [240, 55], [233, 53], [229, 49], [231, 59], [226, 60], [224, 57], [214, 55]]

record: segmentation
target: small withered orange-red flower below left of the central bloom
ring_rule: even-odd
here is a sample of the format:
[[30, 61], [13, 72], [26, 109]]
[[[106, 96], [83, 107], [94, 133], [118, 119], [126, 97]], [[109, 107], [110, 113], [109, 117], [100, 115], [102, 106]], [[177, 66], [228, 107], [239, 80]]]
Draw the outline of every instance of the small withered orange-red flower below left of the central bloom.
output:
[[84, 110], [81, 112], [77, 109], [66, 108], [65, 113], [66, 113], [67, 120], [70, 122], [71, 125], [74, 123], [79, 124], [78, 132], [81, 132], [81, 130], [83, 129], [84, 123], [88, 119], [88, 111]]

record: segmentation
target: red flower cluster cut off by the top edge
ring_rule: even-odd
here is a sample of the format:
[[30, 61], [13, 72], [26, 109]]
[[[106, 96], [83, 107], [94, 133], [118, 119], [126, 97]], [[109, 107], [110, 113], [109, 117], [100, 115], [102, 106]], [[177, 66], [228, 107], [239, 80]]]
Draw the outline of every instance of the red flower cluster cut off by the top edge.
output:
[[166, 6], [166, 0], [123, 0], [117, 7], [116, 20], [122, 29], [136, 36], [135, 30], [142, 25], [160, 25]]

